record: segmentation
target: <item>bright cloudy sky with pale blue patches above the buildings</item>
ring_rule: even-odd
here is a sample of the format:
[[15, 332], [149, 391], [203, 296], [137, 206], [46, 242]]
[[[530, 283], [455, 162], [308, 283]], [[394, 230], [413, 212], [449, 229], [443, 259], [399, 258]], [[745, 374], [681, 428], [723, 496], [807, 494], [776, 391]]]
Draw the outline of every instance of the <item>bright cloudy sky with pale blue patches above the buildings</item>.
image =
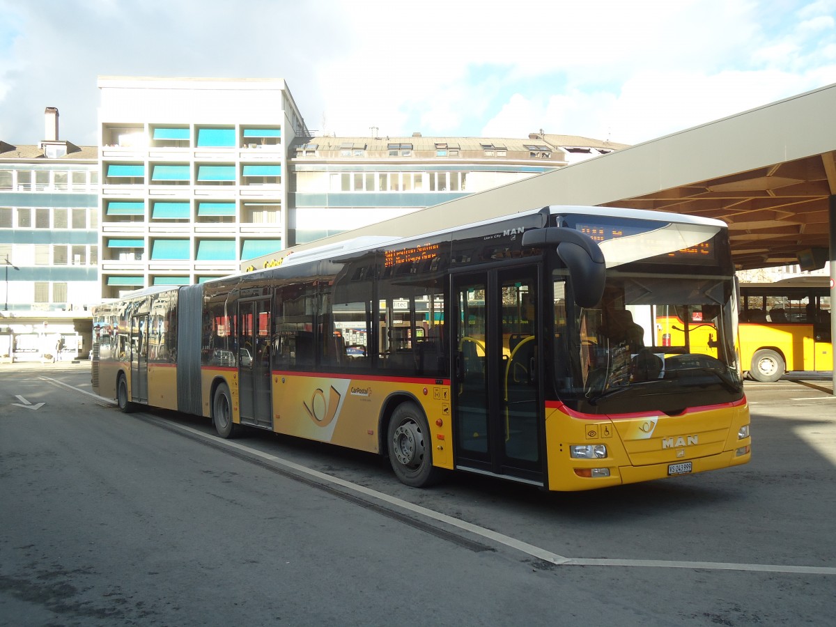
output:
[[0, 0], [0, 140], [98, 76], [284, 79], [318, 135], [638, 144], [836, 83], [836, 0]]

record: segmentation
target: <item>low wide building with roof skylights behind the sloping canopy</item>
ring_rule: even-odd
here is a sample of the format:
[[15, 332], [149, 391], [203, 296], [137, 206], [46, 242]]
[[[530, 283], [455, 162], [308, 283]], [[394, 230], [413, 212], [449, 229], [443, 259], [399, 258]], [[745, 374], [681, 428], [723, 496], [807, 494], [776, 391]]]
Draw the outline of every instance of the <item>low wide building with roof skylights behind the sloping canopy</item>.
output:
[[[288, 246], [507, 185], [624, 147], [573, 135], [299, 137]], [[431, 229], [431, 225], [427, 225]]]

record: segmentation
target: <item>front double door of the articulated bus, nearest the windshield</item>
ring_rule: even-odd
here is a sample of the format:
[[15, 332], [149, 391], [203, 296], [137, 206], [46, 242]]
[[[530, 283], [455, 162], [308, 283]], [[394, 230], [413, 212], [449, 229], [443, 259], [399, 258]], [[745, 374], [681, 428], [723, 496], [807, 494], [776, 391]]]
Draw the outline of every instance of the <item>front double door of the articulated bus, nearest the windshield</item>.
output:
[[452, 281], [456, 466], [543, 485], [538, 268]]

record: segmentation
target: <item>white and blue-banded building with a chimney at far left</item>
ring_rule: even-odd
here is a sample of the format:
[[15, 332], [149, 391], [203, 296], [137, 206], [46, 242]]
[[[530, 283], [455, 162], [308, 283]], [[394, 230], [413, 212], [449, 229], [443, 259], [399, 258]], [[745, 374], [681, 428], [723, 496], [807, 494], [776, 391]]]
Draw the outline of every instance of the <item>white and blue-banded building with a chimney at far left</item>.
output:
[[94, 146], [59, 137], [0, 138], [0, 360], [74, 359], [89, 351], [89, 303], [99, 300], [99, 166]]

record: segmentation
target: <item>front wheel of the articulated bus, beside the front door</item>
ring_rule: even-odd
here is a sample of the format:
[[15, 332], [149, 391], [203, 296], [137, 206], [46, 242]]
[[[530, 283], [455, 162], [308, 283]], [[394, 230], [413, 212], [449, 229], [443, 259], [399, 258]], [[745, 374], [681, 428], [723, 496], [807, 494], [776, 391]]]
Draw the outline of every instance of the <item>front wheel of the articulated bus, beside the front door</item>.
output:
[[392, 470], [400, 482], [411, 487], [435, 485], [444, 476], [432, 465], [430, 426], [415, 403], [401, 403], [392, 413], [386, 436]]

